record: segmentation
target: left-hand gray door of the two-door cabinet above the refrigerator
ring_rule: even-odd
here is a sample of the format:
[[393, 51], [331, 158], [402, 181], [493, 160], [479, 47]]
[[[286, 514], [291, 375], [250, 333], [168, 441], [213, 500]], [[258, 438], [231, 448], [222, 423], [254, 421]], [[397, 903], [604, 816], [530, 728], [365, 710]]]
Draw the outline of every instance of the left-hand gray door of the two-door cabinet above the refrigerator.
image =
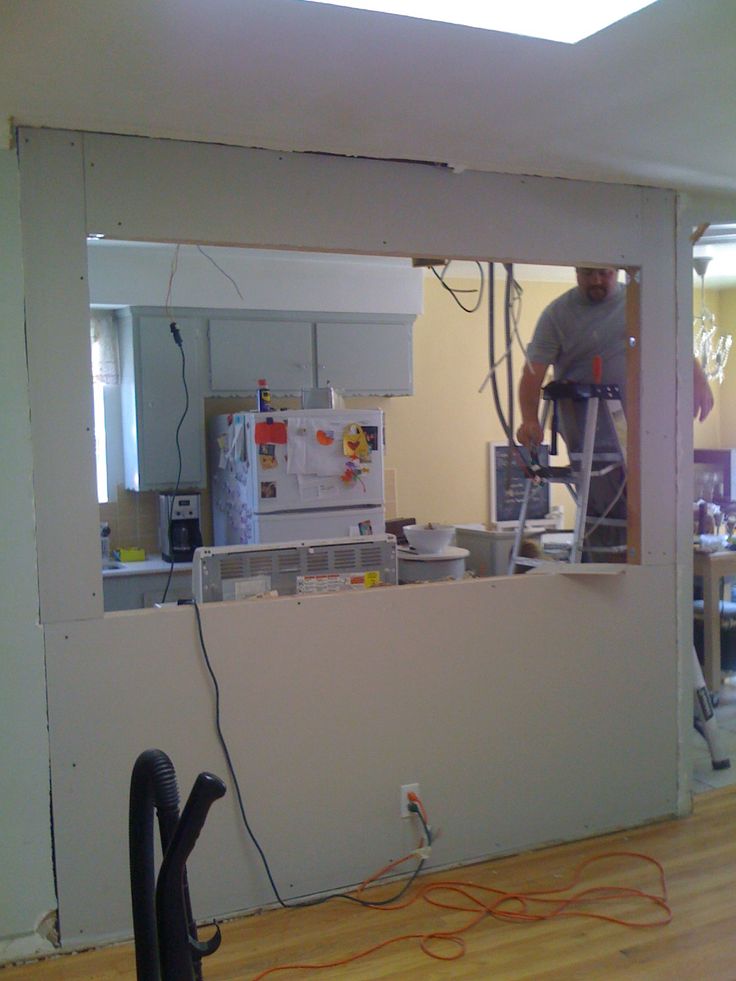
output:
[[279, 395], [314, 385], [311, 323], [213, 318], [209, 346], [210, 389], [218, 395], [255, 392], [259, 378]]

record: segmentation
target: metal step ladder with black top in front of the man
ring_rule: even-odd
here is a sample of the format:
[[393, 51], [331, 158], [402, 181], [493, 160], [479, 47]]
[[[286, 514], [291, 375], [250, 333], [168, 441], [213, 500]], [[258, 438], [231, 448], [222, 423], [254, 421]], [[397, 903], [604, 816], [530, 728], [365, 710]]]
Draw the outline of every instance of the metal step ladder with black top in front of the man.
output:
[[[544, 562], [581, 562], [583, 553], [595, 557], [596, 554], [619, 553], [626, 554], [626, 545], [590, 546], [586, 543], [587, 536], [599, 526], [626, 527], [625, 518], [611, 518], [607, 513], [602, 516], [588, 515], [588, 500], [590, 483], [594, 477], [602, 477], [614, 470], [621, 470], [621, 492], [623, 493], [626, 475], [626, 418], [621, 402], [621, 391], [618, 385], [602, 384], [600, 382], [550, 382], [542, 390], [545, 402], [542, 417], [542, 429], [546, 428], [550, 414], [552, 415], [552, 445], [551, 453], [557, 452], [557, 431], [560, 403], [569, 400], [580, 403], [583, 409], [583, 438], [582, 450], [570, 453], [570, 464], [565, 467], [543, 466], [535, 450], [517, 447], [521, 458], [525, 461], [527, 477], [524, 484], [519, 523], [514, 536], [514, 544], [509, 557], [509, 575], [513, 575], [519, 567], [535, 567]], [[613, 436], [611, 446], [606, 452], [596, 451], [595, 437], [598, 420], [605, 413], [610, 421], [609, 432]], [[575, 526], [572, 539], [566, 550], [555, 557], [529, 558], [522, 555], [527, 512], [532, 490], [541, 482], [563, 484], [575, 502]], [[610, 509], [616, 503], [614, 499]]]

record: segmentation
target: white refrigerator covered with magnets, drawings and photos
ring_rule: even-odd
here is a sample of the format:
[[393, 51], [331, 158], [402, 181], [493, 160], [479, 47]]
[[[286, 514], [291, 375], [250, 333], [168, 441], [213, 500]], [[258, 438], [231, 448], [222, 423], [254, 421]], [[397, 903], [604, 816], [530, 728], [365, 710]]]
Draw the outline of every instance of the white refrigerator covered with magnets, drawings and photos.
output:
[[220, 415], [208, 444], [215, 545], [385, 533], [380, 409]]

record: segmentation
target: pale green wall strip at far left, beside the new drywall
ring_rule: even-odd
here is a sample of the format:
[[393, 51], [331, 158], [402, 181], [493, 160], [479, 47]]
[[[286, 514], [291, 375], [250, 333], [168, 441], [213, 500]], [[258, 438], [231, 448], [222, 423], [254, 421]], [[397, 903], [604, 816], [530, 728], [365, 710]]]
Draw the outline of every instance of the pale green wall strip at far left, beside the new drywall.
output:
[[23, 324], [18, 161], [0, 151], [0, 960], [56, 907], [51, 867], [43, 633], [38, 623], [31, 429]]

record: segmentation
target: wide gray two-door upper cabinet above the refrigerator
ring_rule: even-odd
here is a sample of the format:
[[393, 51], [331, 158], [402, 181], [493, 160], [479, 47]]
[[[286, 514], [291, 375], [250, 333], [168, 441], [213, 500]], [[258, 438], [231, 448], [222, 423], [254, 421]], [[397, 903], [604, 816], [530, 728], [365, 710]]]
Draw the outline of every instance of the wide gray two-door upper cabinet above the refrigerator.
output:
[[411, 316], [303, 313], [210, 317], [210, 391], [277, 395], [332, 385], [346, 395], [411, 395]]

